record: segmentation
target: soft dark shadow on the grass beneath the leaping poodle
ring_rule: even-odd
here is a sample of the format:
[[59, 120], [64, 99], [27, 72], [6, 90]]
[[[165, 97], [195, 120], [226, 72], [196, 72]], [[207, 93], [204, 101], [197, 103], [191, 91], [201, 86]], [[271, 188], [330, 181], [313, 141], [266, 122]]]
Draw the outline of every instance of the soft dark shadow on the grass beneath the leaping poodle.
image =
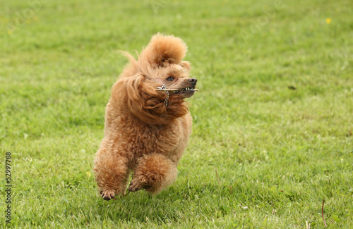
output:
[[[217, 185], [198, 187], [170, 187], [157, 196], [147, 192], [126, 192], [124, 197], [104, 201], [98, 194], [86, 197], [83, 203], [84, 215], [88, 221], [113, 221], [126, 223], [170, 223], [198, 215], [210, 215], [224, 208], [215, 203], [220, 187]], [[229, 195], [230, 197], [230, 195]], [[228, 197], [226, 197], [228, 199]], [[220, 204], [222, 206], [220, 206]], [[74, 210], [75, 211], [75, 210]], [[77, 211], [77, 210], [76, 210]], [[226, 213], [226, 212], [225, 212]]]

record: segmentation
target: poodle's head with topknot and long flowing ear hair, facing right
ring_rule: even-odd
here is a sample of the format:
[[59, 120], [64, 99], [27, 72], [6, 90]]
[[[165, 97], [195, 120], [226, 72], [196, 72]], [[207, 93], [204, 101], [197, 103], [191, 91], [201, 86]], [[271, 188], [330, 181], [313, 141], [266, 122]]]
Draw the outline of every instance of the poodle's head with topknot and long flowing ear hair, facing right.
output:
[[[184, 99], [193, 96], [196, 78], [190, 78], [190, 63], [182, 61], [186, 44], [178, 37], [157, 34], [136, 61], [130, 63], [112, 87], [112, 101], [124, 106], [145, 123], [168, 124], [189, 112]], [[156, 91], [157, 87], [181, 89]]]

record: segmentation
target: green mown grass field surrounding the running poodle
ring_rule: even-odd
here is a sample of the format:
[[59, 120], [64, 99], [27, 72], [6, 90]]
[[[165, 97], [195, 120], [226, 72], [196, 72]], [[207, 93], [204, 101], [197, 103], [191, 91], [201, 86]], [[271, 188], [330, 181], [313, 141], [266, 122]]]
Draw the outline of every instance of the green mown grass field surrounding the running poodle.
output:
[[[1, 1], [7, 226], [325, 228], [325, 199], [328, 227], [353, 228], [352, 15], [351, 0]], [[157, 32], [189, 46], [190, 144], [169, 190], [106, 202], [91, 168], [114, 51]]]

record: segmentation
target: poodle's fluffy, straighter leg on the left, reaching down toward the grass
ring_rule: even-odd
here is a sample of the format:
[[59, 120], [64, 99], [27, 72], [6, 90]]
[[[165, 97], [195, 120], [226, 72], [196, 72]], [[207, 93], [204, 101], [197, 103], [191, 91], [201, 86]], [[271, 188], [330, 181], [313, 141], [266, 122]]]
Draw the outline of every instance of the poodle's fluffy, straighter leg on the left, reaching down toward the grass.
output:
[[114, 199], [117, 194], [125, 194], [129, 174], [127, 159], [98, 151], [94, 163], [95, 179], [103, 199]]

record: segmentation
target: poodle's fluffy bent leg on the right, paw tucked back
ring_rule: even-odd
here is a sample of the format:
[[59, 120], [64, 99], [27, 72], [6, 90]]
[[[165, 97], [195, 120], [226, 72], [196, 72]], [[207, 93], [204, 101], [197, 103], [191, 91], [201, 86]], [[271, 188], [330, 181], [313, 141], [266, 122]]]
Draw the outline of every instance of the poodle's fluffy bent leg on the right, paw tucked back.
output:
[[177, 166], [162, 154], [145, 155], [138, 160], [133, 179], [128, 187], [130, 192], [145, 189], [158, 194], [172, 185], [177, 178]]

